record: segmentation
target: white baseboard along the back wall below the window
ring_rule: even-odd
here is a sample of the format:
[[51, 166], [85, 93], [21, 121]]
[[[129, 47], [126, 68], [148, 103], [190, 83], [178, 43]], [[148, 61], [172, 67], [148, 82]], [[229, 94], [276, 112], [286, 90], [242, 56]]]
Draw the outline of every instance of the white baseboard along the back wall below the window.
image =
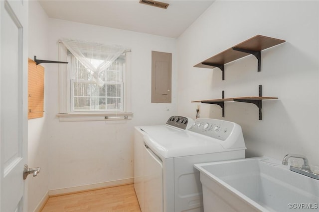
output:
[[76, 193], [76, 192], [87, 191], [87, 190], [120, 186], [120, 185], [125, 185], [125, 184], [132, 184], [133, 182], [134, 182], [134, 178], [132, 177], [132, 178], [127, 178], [127, 179], [103, 182], [103, 183], [94, 183], [94, 184], [75, 186], [75, 187], [70, 187], [70, 188], [53, 189], [53, 190], [48, 191], [48, 196], [52, 197], [52, 196], [59, 196], [59, 195]]

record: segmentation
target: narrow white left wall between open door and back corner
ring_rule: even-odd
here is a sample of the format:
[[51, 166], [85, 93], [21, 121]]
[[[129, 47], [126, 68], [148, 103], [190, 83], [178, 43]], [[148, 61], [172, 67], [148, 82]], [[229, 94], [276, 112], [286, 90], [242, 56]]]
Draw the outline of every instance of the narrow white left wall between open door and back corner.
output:
[[[38, 1], [29, 1], [29, 35], [28, 57], [34, 60], [45, 60], [48, 57], [48, 17]], [[47, 68], [45, 64], [41, 64]], [[44, 84], [46, 85], [45, 77]], [[36, 177], [29, 175], [26, 179], [28, 186], [28, 212], [34, 211], [48, 191], [48, 139], [47, 139], [47, 89], [44, 87], [44, 115], [42, 118], [28, 120], [28, 166], [41, 167]]]

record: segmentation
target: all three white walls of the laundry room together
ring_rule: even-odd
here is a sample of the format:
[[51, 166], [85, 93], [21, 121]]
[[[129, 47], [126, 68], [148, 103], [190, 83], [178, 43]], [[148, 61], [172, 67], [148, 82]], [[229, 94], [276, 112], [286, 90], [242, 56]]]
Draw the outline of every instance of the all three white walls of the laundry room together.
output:
[[[132, 48], [134, 117], [127, 122], [59, 122], [58, 66], [43, 65], [44, 117], [28, 122], [28, 164], [41, 166], [36, 178], [27, 179], [28, 211], [47, 190], [132, 178], [134, 126], [162, 124], [177, 109], [195, 118], [197, 104], [191, 101], [220, 98], [222, 90], [225, 97], [254, 96], [259, 84], [265, 96], [279, 97], [263, 102], [262, 121], [257, 107], [245, 103], [226, 103], [225, 118], [219, 106], [201, 104], [201, 117], [239, 123], [248, 156], [282, 159], [300, 153], [319, 165], [318, 2], [216, 1], [178, 38], [177, 47], [172, 38], [48, 19], [37, 1], [29, 7], [30, 58], [58, 60], [61, 38]], [[253, 56], [226, 65], [224, 81], [218, 69], [193, 68], [256, 34], [287, 41], [262, 52], [262, 72]], [[150, 103], [153, 50], [172, 53], [172, 104]]]

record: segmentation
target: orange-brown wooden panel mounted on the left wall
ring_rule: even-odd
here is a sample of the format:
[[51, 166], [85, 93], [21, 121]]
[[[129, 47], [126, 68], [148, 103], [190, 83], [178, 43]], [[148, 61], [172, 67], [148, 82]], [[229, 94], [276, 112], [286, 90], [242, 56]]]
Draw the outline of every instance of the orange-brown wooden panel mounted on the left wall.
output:
[[43, 117], [44, 67], [28, 59], [28, 119]]

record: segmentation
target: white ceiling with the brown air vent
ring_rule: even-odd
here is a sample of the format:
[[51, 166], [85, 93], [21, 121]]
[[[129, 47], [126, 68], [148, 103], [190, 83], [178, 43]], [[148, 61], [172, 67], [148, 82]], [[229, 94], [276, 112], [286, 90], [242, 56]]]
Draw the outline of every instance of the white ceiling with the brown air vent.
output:
[[158, 0], [167, 9], [139, 0], [39, 0], [50, 18], [177, 38], [214, 0]]

